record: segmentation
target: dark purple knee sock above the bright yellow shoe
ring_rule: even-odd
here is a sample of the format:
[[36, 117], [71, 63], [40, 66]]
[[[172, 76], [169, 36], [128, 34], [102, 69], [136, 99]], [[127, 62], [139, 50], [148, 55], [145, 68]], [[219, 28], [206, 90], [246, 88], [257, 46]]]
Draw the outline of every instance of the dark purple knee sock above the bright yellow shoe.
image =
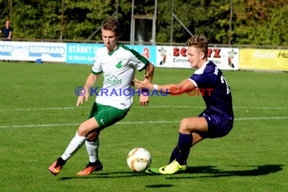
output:
[[178, 140], [178, 157], [176, 158], [176, 161], [180, 165], [186, 165], [187, 158], [190, 153], [190, 148], [192, 145], [193, 137], [191, 134], [183, 134], [179, 133], [179, 140]]

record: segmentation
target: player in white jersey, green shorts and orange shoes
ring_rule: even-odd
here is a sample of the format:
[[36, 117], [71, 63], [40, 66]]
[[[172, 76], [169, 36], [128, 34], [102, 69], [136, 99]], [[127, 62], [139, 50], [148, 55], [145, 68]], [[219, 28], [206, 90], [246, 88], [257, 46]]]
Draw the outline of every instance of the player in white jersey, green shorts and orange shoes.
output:
[[[101, 130], [120, 121], [127, 115], [133, 102], [131, 83], [135, 70], [146, 69], [144, 78], [149, 79], [149, 81], [152, 81], [153, 78], [153, 64], [136, 51], [119, 43], [120, 29], [116, 20], [105, 20], [102, 24], [101, 32], [105, 46], [98, 49], [95, 53], [92, 72], [87, 77], [84, 90], [82, 91], [84, 95], [78, 97], [76, 107], [83, 103], [84, 98], [85, 101], [88, 101], [88, 90], [99, 79], [101, 73], [104, 75], [102, 93], [97, 95], [89, 119], [80, 124], [63, 155], [48, 168], [54, 175], [60, 172], [66, 161], [84, 143], [89, 155], [89, 163], [77, 175], [89, 175], [93, 171], [102, 170], [103, 165], [99, 160], [98, 154]], [[148, 105], [148, 94], [140, 92], [139, 95], [140, 105]]]

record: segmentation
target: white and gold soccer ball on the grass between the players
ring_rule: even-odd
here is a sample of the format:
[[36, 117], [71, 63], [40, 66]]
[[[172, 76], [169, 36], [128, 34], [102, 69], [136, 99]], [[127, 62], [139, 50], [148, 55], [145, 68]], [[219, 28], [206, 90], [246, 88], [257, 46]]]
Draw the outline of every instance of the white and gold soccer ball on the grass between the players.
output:
[[152, 159], [149, 151], [143, 148], [132, 149], [127, 156], [127, 164], [135, 172], [143, 172], [149, 168]]

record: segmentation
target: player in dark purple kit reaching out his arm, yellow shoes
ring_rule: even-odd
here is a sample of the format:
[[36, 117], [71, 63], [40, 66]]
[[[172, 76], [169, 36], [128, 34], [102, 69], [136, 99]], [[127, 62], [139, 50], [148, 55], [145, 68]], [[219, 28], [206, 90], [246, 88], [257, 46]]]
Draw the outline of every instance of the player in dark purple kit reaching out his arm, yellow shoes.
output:
[[[148, 79], [139, 81], [134, 78], [135, 86], [150, 90], [178, 93], [188, 90], [203, 91], [206, 109], [198, 117], [184, 118], [179, 126], [179, 139], [174, 148], [169, 164], [159, 169], [150, 168], [147, 173], [174, 174], [187, 168], [190, 148], [205, 138], [222, 137], [229, 133], [233, 126], [233, 109], [230, 87], [222, 71], [208, 61], [208, 40], [205, 36], [196, 35], [187, 40], [187, 59], [191, 67], [197, 70], [194, 74], [178, 84], [157, 85]], [[170, 91], [173, 90], [173, 91]], [[184, 91], [186, 90], [186, 91]]]

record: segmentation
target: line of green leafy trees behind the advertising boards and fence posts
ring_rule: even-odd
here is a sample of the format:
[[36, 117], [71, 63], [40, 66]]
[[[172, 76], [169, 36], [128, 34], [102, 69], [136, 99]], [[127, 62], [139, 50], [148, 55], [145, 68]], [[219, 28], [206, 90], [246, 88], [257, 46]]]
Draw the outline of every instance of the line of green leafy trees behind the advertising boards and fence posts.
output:
[[[80, 41], [90, 37], [100, 41], [97, 29], [113, 17], [120, 24], [120, 40], [130, 41], [131, 2], [0, 0], [0, 22], [4, 26], [11, 21], [14, 39]], [[189, 30], [215, 44], [288, 46], [288, 0], [158, 0], [157, 43], [171, 41], [172, 3], [173, 14], [180, 20], [173, 17], [172, 42], [186, 42]], [[134, 15], [154, 16], [154, 8], [154, 0], [134, 0]]]

